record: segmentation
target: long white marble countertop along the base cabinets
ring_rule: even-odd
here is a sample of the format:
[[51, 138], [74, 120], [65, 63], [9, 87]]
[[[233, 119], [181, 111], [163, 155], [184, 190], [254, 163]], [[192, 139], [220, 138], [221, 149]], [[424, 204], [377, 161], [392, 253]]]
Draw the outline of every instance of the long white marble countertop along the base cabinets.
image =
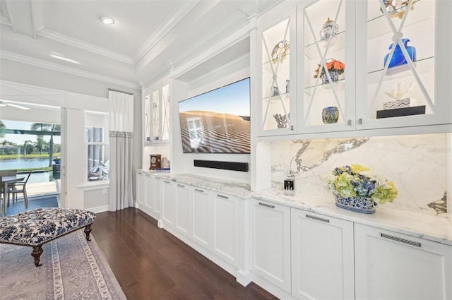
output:
[[[142, 172], [147, 172], [142, 170]], [[374, 214], [362, 214], [338, 208], [335, 206], [334, 197], [323, 197], [307, 194], [286, 196], [284, 191], [276, 188], [268, 188], [263, 191], [252, 192], [249, 184], [222, 179], [213, 179], [193, 174], [155, 174], [162, 179], [172, 180], [180, 184], [188, 184], [198, 188], [205, 188], [218, 193], [225, 193], [238, 198], [256, 198], [278, 204], [316, 212], [330, 217], [338, 217], [360, 224], [367, 224], [381, 229], [400, 232], [410, 236], [420, 237], [430, 241], [436, 241], [452, 246], [452, 219], [447, 217], [435, 217], [393, 208], [385, 208], [379, 205]]]

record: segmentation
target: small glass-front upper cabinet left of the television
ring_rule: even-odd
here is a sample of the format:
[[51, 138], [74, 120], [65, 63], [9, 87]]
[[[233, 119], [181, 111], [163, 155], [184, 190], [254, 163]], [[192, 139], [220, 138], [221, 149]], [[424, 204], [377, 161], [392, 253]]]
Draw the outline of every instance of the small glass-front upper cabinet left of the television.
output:
[[169, 85], [144, 96], [144, 143], [169, 142]]

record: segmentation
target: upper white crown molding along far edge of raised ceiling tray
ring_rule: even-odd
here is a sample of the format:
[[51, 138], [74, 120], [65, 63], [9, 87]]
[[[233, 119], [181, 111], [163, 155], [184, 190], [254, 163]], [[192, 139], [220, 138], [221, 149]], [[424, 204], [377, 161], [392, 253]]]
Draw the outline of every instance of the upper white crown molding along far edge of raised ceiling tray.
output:
[[97, 47], [87, 42], [82, 42], [81, 40], [74, 39], [67, 35], [61, 35], [61, 33], [54, 32], [53, 30], [49, 30], [47, 28], [42, 28], [39, 32], [37, 32], [37, 35], [39, 35], [40, 37], [45, 37], [50, 40], [61, 42], [63, 44], [69, 44], [70, 46], [77, 47], [78, 49], [93, 52], [95, 54], [108, 57], [109, 59], [121, 61], [123, 63], [133, 66], [133, 61], [129, 56], [119, 54], [117, 52], [113, 52], [102, 47]]

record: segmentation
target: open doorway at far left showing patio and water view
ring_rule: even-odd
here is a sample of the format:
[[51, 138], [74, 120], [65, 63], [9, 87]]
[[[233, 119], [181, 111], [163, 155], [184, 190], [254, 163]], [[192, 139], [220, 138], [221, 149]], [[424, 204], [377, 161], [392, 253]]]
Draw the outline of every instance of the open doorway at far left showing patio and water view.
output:
[[[16, 170], [26, 180], [28, 210], [62, 206], [61, 115], [59, 107], [0, 102], [0, 170]], [[25, 211], [24, 198], [8, 201], [7, 215]]]

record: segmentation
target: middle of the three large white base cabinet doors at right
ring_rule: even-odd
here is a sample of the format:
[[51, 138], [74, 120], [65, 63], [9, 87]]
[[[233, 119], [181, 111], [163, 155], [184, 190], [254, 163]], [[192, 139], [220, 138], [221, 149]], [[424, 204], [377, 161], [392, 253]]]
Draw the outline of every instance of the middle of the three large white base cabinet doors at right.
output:
[[354, 299], [353, 223], [291, 209], [292, 295]]

